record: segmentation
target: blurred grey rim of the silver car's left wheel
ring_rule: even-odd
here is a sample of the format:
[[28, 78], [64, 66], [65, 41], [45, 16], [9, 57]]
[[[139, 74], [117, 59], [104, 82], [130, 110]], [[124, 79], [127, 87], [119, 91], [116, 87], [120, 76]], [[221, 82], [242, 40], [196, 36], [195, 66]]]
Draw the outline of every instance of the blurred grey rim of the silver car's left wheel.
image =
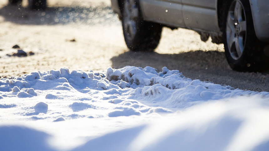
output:
[[124, 32], [128, 40], [133, 40], [137, 32], [138, 7], [134, 0], [124, 2]]

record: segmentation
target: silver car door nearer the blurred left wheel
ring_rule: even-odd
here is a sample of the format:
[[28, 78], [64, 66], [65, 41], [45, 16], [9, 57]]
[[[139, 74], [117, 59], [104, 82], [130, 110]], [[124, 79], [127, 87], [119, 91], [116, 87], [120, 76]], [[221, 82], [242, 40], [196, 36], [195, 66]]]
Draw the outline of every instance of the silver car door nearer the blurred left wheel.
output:
[[143, 18], [174, 27], [185, 27], [182, 0], [140, 0]]

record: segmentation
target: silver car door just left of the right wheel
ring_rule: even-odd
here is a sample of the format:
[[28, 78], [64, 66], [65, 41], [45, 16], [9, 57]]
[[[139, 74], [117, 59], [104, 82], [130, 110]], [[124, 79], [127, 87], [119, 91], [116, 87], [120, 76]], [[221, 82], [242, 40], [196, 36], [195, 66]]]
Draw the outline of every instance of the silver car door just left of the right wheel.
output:
[[182, 0], [187, 28], [218, 33], [217, 0]]

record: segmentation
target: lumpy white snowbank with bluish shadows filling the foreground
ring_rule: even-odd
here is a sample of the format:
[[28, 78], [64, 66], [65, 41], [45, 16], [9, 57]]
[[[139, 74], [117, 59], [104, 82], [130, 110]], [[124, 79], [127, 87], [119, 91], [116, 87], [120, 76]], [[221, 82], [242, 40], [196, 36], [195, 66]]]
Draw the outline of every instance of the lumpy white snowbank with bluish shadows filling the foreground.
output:
[[0, 79], [0, 150], [268, 150], [269, 93], [166, 67]]

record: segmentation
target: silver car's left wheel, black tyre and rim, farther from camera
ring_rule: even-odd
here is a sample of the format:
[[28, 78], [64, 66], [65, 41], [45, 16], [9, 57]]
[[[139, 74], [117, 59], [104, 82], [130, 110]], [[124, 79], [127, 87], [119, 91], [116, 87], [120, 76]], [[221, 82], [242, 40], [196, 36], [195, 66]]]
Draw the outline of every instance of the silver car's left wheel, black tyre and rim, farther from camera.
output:
[[131, 51], [154, 51], [158, 46], [162, 25], [144, 21], [137, 0], [123, 0], [122, 28], [124, 40]]

